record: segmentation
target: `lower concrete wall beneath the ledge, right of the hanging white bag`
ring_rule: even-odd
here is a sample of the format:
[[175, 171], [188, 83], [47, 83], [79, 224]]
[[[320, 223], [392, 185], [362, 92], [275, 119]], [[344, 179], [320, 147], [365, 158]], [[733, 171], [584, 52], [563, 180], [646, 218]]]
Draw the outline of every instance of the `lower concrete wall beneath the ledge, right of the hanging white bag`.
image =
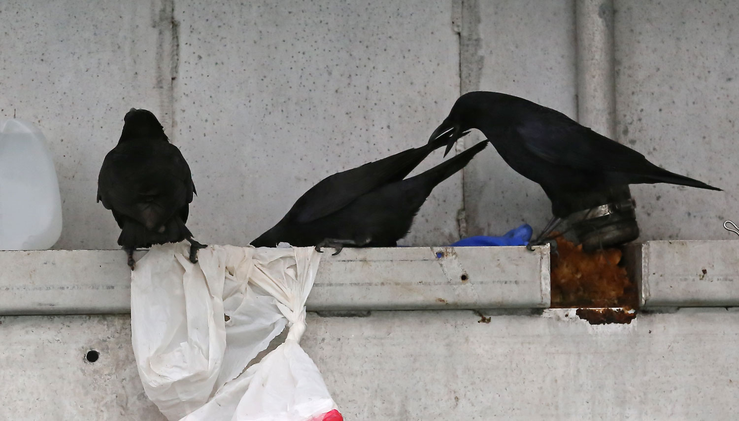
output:
[[738, 311], [606, 326], [573, 313], [312, 319], [303, 346], [347, 419], [720, 420], [739, 411]]

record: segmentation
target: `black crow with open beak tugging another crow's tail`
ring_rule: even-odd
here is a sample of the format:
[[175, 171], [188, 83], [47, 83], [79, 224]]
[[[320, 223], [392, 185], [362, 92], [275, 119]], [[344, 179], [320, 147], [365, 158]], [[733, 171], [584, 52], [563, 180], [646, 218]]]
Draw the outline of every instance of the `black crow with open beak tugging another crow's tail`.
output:
[[567, 115], [513, 95], [485, 91], [462, 95], [429, 142], [447, 138], [449, 152], [469, 129], [483, 132], [506, 164], [544, 189], [554, 218], [539, 239], [562, 218], [582, 210], [578, 203], [583, 197], [612, 186], [671, 183], [721, 190], [661, 169]]

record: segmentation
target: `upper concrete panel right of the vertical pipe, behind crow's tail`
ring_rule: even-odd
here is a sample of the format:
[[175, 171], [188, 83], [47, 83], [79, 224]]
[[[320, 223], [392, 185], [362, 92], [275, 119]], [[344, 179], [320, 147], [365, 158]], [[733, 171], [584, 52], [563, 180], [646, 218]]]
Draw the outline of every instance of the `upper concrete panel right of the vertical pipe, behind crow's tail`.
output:
[[633, 186], [641, 240], [733, 239], [739, 3], [615, 1], [619, 141], [725, 192]]

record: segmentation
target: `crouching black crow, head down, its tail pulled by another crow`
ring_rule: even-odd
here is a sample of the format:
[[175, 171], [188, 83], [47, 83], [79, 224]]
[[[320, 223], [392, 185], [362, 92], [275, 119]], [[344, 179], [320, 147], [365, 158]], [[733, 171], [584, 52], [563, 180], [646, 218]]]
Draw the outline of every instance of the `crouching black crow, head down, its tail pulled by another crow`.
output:
[[462, 169], [487, 145], [480, 142], [459, 155], [403, 178], [446, 138], [408, 149], [355, 169], [330, 175], [305, 192], [285, 218], [251, 242], [256, 247], [393, 247], [411, 228], [418, 209], [438, 183]]

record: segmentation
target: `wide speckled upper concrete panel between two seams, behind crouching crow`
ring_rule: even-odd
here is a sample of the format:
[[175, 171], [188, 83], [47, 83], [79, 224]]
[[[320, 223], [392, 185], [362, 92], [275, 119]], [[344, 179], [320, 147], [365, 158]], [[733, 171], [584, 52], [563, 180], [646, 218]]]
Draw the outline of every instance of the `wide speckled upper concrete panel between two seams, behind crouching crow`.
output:
[[[459, 94], [452, 1], [178, 1], [174, 16], [188, 226], [205, 242], [245, 245], [327, 175], [426, 144]], [[457, 239], [461, 201], [454, 175], [404, 243]]]

